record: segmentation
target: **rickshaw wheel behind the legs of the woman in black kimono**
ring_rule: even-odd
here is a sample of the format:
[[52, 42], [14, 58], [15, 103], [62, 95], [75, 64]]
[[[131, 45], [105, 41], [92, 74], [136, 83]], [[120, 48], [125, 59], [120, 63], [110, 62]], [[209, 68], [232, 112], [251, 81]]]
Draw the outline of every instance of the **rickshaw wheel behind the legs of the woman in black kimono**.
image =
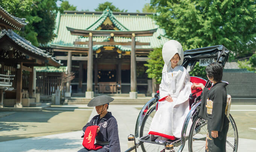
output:
[[[237, 152], [238, 131], [235, 120], [229, 115], [229, 131], [227, 132], [226, 152]], [[189, 152], [205, 152], [207, 122], [197, 117], [194, 119], [189, 133]]]

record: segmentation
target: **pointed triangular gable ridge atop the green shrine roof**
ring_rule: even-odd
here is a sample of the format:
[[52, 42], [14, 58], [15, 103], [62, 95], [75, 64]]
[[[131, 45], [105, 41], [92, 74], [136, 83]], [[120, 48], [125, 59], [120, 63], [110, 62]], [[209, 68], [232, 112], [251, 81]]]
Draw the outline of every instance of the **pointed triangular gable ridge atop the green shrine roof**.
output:
[[98, 29], [99, 26], [101, 26], [101, 24], [104, 23], [104, 21], [107, 19], [107, 17], [111, 20], [111, 22], [114, 24], [114, 26], [116, 26], [119, 30], [122, 31], [129, 31], [125, 26], [123, 26], [123, 24], [121, 24], [115, 17], [113, 12], [111, 11], [111, 9], [109, 7], [107, 7], [101, 14], [101, 17], [99, 17], [99, 19], [94, 22], [91, 26], [89, 26], [87, 28], [87, 30], [96, 30]]

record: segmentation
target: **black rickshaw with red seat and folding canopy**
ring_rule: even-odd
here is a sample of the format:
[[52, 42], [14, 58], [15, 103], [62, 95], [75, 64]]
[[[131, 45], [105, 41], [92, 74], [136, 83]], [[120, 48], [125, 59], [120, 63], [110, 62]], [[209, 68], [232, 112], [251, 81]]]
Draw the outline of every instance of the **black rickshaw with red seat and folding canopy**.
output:
[[[229, 50], [223, 45], [216, 45], [211, 47], [196, 48], [184, 51], [184, 66], [187, 71], [191, 71], [195, 64], [206, 66], [211, 62], [221, 63], [224, 67]], [[203, 83], [205, 87], [210, 88], [211, 82], [200, 77], [190, 77], [191, 82]], [[227, 83], [227, 82], [226, 82]], [[136, 121], [135, 137], [140, 137], [139, 141], [125, 152], [130, 152], [141, 146], [143, 152], [164, 152], [167, 144], [174, 147], [175, 152], [189, 151], [189, 152], [204, 152], [206, 144], [207, 121], [198, 117], [198, 112], [201, 105], [201, 90], [192, 92], [189, 96], [190, 111], [187, 114], [186, 120], [182, 127], [181, 138], [174, 141], [166, 141], [166, 143], [156, 143], [151, 141], [148, 130], [152, 118], [157, 110], [157, 102], [159, 99], [159, 92], [157, 92], [151, 100], [149, 100], [140, 110]], [[231, 97], [228, 95], [231, 103]], [[238, 131], [235, 120], [229, 113], [230, 104], [228, 105], [227, 117], [230, 120], [229, 131], [227, 133], [226, 151], [237, 152], [238, 150]], [[189, 120], [192, 119], [192, 126], [190, 127], [189, 135], [186, 135], [186, 130], [189, 128]], [[185, 144], [188, 141], [188, 144]]]

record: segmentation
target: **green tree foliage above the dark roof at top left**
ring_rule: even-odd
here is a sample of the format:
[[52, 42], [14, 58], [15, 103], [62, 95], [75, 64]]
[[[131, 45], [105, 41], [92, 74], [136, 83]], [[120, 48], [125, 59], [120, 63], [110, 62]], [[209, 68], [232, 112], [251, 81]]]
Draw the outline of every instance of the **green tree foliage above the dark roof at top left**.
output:
[[33, 45], [46, 44], [54, 37], [57, 0], [1, 0], [0, 5], [10, 14], [26, 18], [24, 31], [15, 31]]

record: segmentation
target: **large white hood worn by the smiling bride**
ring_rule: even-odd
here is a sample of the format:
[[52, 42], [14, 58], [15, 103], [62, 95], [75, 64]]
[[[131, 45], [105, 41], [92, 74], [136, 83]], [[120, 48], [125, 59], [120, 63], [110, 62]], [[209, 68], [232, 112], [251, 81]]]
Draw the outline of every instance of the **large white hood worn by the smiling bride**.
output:
[[184, 53], [180, 42], [175, 40], [165, 42], [162, 48], [163, 61], [165, 62], [162, 72], [166, 72], [168, 68], [171, 67], [171, 59], [176, 53], [178, 53], [180, 56], [178, 65], [182, 65], [184, 60]]

